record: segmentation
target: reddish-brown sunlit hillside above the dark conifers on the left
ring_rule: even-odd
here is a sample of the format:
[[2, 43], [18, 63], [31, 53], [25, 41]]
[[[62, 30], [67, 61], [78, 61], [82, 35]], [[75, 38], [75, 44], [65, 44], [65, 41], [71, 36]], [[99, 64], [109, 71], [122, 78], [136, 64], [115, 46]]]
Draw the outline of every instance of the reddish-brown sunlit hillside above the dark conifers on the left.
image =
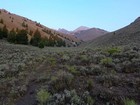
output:
[[10, 13], [4, 9], [0, 9], [0, 28], [3, 28], [4, 25], [8, 28], [8, 30], [28, 30], [29, 38], [32, 37], [35, 30], [39, 30], [42, 37], [49, 37], [50, 35], [57, 35], [61, 39], [65, 40], [65, 42], [69, 45], [74, 44], [74, 42], [79, 42], [77, 38], [74, 36], [70, 36], [67, 34], [63, 34], [52, 30], [36, 21], [32, 21], [28, 18]]

